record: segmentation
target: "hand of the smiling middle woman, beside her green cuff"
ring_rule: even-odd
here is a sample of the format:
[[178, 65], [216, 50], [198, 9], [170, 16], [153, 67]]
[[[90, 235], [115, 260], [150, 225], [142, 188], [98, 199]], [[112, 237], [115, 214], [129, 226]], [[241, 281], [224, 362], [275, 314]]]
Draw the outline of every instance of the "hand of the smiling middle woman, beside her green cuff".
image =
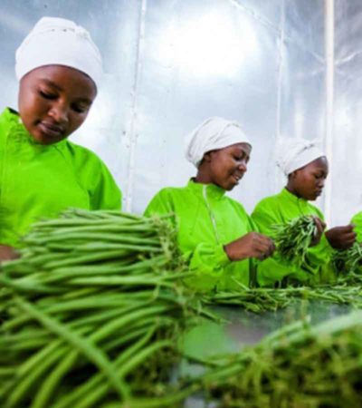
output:
[[259, 232], [249, 232], [243, 237], [225, 245], [224, 250], [232, 261], [238, 261], [248, 257], [265, 259], [271, 256], [275, 250], [275, 246], [271, 238]]

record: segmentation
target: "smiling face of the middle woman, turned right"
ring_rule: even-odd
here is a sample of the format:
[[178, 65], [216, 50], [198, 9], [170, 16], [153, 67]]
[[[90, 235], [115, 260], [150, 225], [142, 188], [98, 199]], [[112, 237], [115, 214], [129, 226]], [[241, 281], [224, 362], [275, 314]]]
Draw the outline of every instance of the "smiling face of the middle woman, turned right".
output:
[[248, 143], [236, 143], [224, 149], [209, 151], [204, 160], [208, 162], [208, 178], [222, 189], [233, 189], [247, 170], [252, 146]]

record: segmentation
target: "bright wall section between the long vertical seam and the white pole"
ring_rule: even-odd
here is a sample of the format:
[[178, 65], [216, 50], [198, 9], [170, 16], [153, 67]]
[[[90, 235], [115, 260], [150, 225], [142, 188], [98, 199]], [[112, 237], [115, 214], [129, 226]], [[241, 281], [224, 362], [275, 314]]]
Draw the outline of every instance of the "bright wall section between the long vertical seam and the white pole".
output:
[[252, 139], [249, 172], [233, 191], [252, 210], [281, 187], [276, 138], [324, 136], [324, 3], [149, 1], [143, 24], [129, 208], [186, 184], [195, 169], [184, 137], [220, 115]]

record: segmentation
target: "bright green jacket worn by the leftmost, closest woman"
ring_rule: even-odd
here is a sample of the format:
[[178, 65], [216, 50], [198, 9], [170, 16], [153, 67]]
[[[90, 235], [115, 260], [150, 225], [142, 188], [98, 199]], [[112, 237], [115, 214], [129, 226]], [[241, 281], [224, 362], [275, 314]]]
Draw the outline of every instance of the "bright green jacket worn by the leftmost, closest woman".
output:
[[16, 112], [0, 115], [0, 244], [18, 247], [34, 221], [69, 207], [120, 206], [119, 188], [94, 153], [67, 140], [36, 143]]

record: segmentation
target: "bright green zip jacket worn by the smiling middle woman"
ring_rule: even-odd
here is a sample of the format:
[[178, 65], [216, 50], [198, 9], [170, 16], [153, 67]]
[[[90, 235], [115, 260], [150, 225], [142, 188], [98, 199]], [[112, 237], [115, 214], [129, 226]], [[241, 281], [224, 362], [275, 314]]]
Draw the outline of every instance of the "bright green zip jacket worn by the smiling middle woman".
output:
[[176, 215], [179, 248], [197, 274], [187, 283], [197, 290], [231, 289], [237, 287], [233, 279], [249, 285], [252, 260], [230, 261], [224, 245], [256, 228], [243, 206], [224, 193], [190, 180], [184, 188], [161, 189], [145, 211]]

